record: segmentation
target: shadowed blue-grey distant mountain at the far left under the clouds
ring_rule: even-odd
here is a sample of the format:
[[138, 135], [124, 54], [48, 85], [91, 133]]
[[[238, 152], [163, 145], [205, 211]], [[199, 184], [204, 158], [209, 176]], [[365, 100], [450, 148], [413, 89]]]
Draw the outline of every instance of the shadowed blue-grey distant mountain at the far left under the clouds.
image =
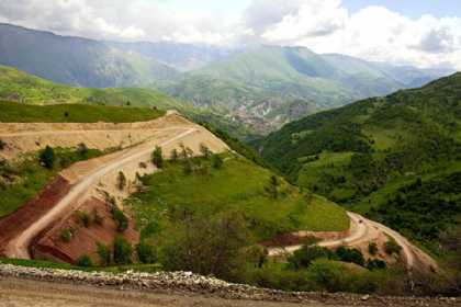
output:
[[178, 72], [151, 58], [80, 37], [0, 24], [0, 65], [88, 88], [151, 87]]

